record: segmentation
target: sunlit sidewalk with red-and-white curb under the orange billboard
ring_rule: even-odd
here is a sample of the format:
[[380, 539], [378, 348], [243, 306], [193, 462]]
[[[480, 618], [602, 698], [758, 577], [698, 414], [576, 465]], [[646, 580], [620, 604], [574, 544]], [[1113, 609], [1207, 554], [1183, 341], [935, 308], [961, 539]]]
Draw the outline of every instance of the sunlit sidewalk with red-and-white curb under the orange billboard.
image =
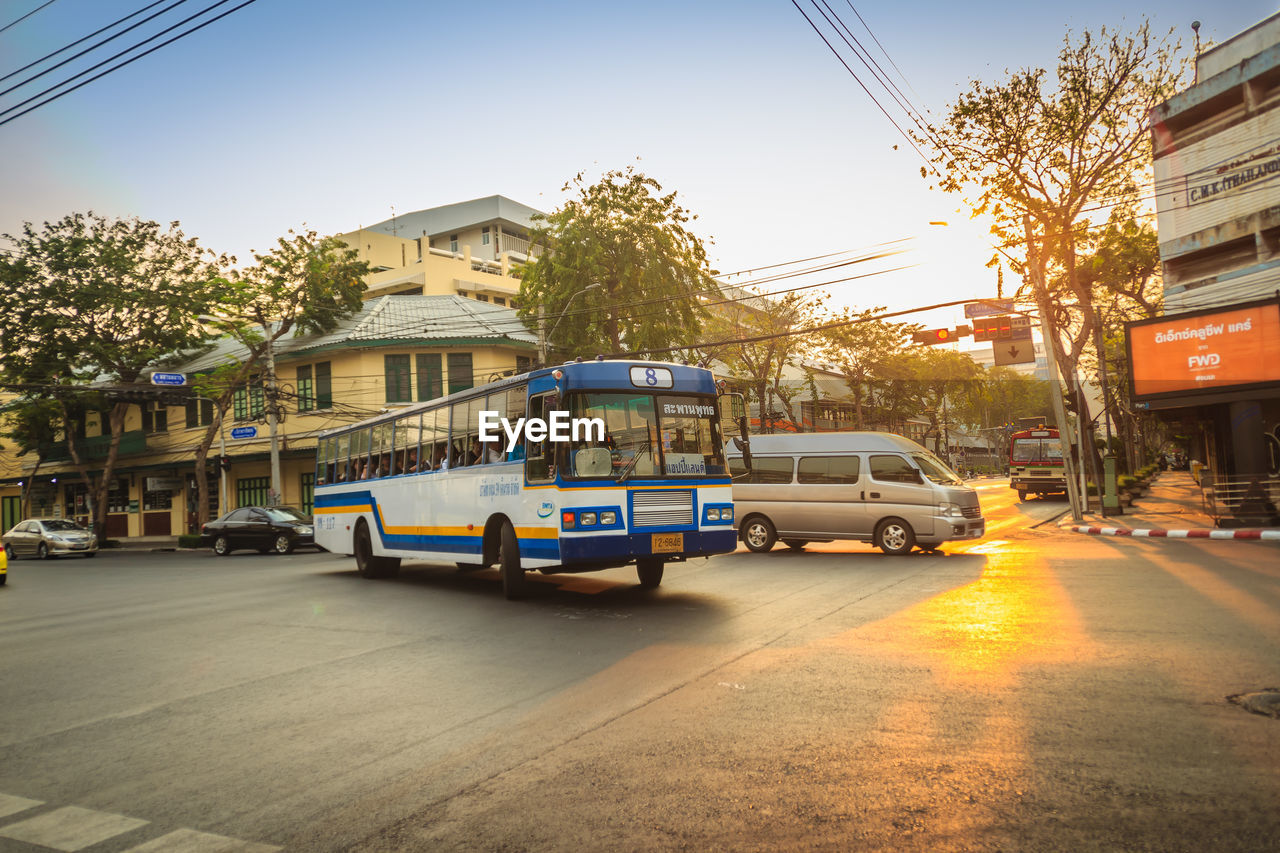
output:
[[1124, 515], [1103, 516], [1093, 498], [1084, 523], [1068, 514], [1059, 526], [1073, 533], [1167, 539], [1276, 539], [1280, 528], [1219, 528], [1204, 511], [1199, 485], [1189, 471], [1162, 471]]

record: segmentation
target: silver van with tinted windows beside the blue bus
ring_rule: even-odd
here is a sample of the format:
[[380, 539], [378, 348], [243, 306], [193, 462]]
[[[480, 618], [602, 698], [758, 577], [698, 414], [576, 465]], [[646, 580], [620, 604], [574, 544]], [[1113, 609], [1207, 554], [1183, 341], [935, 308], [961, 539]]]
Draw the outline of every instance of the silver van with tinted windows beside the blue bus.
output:
[[[884, 553], [934, 548], [986, 533], [978, 493], [942, 460], [893, 433], [751, 435], [751, 470], [726, 448], [739, 538], [751, 551], [778, 539], [869, 540]], [[744, 475], [745, 474], [745, 475]]]

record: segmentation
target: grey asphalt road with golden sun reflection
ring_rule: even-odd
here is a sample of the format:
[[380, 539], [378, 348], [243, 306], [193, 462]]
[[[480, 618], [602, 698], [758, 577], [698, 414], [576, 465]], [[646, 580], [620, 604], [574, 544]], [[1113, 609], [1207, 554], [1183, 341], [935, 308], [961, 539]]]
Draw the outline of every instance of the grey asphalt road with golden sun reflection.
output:
[[942, 555], [526, 602], [301, 552], [18, 561], [0, 850], [1275, 849], [1280, 720], [1226, 697], [1280, 686], [1280, 549], [979, 488]]

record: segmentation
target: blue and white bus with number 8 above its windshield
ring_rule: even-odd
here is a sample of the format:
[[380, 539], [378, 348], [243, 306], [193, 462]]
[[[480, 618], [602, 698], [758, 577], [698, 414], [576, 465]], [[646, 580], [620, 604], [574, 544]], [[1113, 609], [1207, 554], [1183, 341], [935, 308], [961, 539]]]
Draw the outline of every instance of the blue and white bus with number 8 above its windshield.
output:
[[365, 578], [401, 560], [497, 565], [508, 598], [530, 569], [634, 562], [652, 588], [667, 562], [736, 547], [723, 443], [709, 370], [541, 368], [323, 433], [316, 544]]

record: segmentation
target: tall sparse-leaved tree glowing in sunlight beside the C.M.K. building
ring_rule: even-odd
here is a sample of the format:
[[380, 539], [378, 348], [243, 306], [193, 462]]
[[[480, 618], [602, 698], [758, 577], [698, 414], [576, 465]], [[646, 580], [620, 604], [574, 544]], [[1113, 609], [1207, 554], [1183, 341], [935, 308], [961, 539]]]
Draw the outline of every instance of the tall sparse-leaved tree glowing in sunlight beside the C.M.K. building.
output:
[[[919, 137], [934, 146], [940, 186], [951, 192], [975, 187], [970, 206], [992, 218], [1001, 248], [1023, 247], [1014, 266], [1036, 300], [1068, 396], [1075, 400], [1082, 351], [1091, 342], [1103, 347], [1079, 248], [1101, 209], [1133, 207], [1139, 184], [1149, 182], [1149, 115], [1179, 85], [1176, 50], [1153, 40], [1148, 24], [1130, 36], [1106, 28], [1075, 42], [1068, 36], [1053, 81], [1043, 68], [997, 85], [975, 81], [945, 122]], [[1055, 270], [1070, 302], [1050, 293]], [[1069, 336], [1066, 348], [1060, 330]]]

